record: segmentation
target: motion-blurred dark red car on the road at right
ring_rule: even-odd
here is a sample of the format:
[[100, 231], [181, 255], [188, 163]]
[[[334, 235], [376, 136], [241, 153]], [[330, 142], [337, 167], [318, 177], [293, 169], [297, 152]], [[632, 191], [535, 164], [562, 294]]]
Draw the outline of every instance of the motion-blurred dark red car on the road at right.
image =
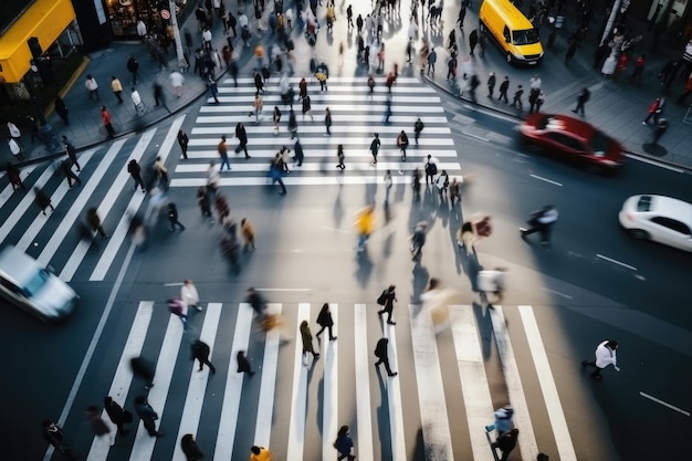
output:
[[625, 160], [619, 142], [567, 115], [530, 114], [518, 126], [518, 132], [525, 144], [591, 171], [617, 170]]

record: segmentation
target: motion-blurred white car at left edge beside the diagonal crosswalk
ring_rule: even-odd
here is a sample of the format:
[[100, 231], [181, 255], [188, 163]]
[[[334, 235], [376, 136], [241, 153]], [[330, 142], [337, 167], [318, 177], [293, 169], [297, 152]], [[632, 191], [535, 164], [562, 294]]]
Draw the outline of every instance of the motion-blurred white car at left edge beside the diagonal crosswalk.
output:
[[0, 296], [43, 322], [70, 315], [80, 301], [70, 285], [12, 245], [0, 252]]

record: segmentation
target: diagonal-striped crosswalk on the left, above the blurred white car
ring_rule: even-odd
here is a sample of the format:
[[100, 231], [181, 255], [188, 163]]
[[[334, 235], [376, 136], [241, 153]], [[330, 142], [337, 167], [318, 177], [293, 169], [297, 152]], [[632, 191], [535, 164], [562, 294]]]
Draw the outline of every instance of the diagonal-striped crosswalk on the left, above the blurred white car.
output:
[[[82, 184], [73, 188], [57, 168], [62, 158], [23, 168], [21, 178], [28, 191], [13, 191], [9, 184], [0, 191], [3, 218], [0, 242], [13, 244], [42, 264], [51, 265], [64, 281], [71, 281], [77, 271], [84, 271], [82, 275], [91, 281], [103, 281], [124, 244], [129, 243], [132, 214], [147, 199], [147, 195], [133, 191], [126, 164], [136, 159], [146, 170], [156, 156], [166, 161], [170, 151], [176, 150], [172, 146], [185, 117], [178, 116], [169, 126], [82, 153], [78, 157], [82, 169], [75, 171]], [[32, 188], [44, 190], [55, 211], [43, 216], [34, 205]], [[111, 234], [108, 239], [84, 239], [81, 234], [81, 223], [92, 207], [97, 209]]]

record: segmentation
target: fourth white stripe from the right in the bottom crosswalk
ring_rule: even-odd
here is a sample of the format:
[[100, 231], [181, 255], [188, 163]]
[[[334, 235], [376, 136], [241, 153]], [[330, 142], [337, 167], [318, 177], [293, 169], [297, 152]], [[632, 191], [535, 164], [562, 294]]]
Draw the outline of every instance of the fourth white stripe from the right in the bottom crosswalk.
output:
[[420, 404], [420, 425], [427, 461], [452, 461], [452, 437], [447, 417], [447, 401], [438, 345], [428, 310], [409, 305], [411, 343]]

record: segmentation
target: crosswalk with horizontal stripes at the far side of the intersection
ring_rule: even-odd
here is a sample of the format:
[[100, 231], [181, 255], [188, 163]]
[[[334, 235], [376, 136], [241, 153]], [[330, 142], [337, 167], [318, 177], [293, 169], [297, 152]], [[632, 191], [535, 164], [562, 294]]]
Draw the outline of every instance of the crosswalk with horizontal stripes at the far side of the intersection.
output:
[[[239, 86], [232, 80], [219, 85], [219, 104], [209, 104], [200, 108], [190, 133], [188, 161], [176, 168], [171, 187], [199, 187], [207, 184], [209, 164], [218, 163], [217, 146], [226, 135], [232, 170], [223, 174], [221, 186], [260, 186], [268, 182], [269, 161], [282, 146], [293, 155], [295, 140], [287, 129], [289, 106], [282, 103], [279, 82], [270, 81], [263, 95], [264, 109], [262, 122], [255, 124], [253, 111], [255, 87], [252, 78], [238, 78]], [[291, 78], [297, 90], [298, 78]], [[296, 92], [297, 93], [297, 92]], [[440, 97], [434, 90], [419, 80], [400, 76], [391, 90], [392, 115], [385, 124], [388, 88], [384, 84], [375, 87], [369, 95], [364, 77], [333, 77], [328, 81], [328, 91], [321, 92], [316, 81], [308, 82], [307, 94], [311, 97], [312, 115], [304, 117], [301, 102], [293, 104], [297, 118], [297, 138], [303, 147], [305, 160], [302, 166], [291, 165], [291, 174], [283, 180], [286, 185], [319, 186], [334, 184], [376, 184], [382, 181], [386, 170], [391, 170], [395, 181], [409, 182], [415, 168], [421, 168], [428, 155], [438, 158], [438, 170], [447, 170], [450, 177], [461, 175], [454, 140], [449, 128]], [[274, 106], [281, 111], [279, 134], [274, 134], [272, 114]], [[325, 109], [329, 108], [333, 126], [332, 136], [325, 136]], [[413, 124], [418, 118], [424, 124], [419, 144], [415, 143]], [[235, 125], [242, 123], [248, 133], [248, 150], [252, 156], [233, 157], [231, 147]], [[396, 139], [401, 130], [409, 137], [407, 161], [401, 161], [401, 153]], [[369, 146], [374, 133], [378, 133], [381, 147], [377, 166], [371, 165]], [[346, 169], [336, 168], [337, 146], [344, 146]], [[397, 175], [400, 174], [401, 176]]]

